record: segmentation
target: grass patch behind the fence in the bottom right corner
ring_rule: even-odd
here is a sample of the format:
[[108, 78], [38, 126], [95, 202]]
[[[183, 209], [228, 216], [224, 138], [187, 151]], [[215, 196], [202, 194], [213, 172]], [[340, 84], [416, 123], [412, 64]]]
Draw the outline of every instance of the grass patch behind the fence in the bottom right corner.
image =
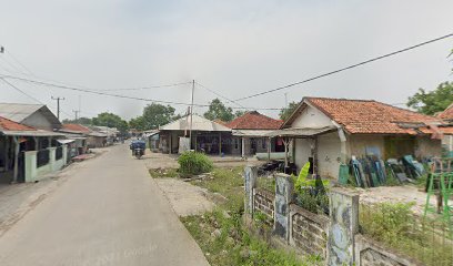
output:
[[362, 234], [425, 265], [452, 265], [453, 243], [447, 239], [445, 225], [421, 221], [413, 215], [412, 206], [403, 203], [361, 205]]

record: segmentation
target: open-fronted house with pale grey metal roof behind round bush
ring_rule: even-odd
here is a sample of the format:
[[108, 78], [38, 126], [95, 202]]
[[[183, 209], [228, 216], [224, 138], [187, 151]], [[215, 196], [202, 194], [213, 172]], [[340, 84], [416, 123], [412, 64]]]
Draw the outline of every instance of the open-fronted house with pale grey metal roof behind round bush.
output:
[[231, 129], [198, 114], [185, 115], [159, 129], [159, 145], [163, 153], [195, 150], [208, 154], [231, 154]]

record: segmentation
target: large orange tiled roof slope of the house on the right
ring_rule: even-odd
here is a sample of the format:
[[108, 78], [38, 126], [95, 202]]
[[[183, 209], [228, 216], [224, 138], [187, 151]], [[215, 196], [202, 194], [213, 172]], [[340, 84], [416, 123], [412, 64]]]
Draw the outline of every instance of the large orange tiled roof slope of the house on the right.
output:
[[[305, 98], [305, 100], [343, 125], [350, 133], [416, 134], [417, 131], [407, 129], [412, 126], [405, 127], [401, 123], [423, 126], [440, 122], [436, 117], [376, 101], [329, 98]], [[429, 132], [430, 130], [425, 130], [423, 133]]]

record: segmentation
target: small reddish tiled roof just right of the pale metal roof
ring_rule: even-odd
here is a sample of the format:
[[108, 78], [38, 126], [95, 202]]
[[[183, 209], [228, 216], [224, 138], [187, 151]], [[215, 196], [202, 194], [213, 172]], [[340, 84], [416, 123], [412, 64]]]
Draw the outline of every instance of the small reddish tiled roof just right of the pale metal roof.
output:
[[229, 122], [226, 126], [233, 130], [278, 130], [282, 124], [282, 120], [274, 120], [252, 111]]

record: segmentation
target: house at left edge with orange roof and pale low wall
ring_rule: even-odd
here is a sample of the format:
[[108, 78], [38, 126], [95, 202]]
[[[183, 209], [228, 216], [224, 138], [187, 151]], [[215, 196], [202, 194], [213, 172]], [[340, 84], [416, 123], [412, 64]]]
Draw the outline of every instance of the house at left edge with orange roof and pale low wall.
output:
[[62, 134], [0, 116], [0, 183], [32, 182], [67, 164]]

